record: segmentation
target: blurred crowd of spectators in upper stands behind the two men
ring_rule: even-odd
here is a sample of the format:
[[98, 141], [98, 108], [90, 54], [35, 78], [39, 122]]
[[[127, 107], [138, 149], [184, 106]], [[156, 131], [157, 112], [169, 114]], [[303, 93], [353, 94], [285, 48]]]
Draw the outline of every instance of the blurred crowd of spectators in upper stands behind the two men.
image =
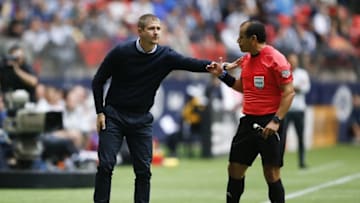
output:
[[42, 77], [91, 77], [112, 45], [136, 37], [143, 13], [160, 17], [162, 44], [183, 54], [233, 60], [242, 54], [239, 24], [253, 18], [266, 23], [269, 44], [299, 54], [312, 76], [360, 75], [355, 0], [2, 0], [0, 44], [21, 41]]

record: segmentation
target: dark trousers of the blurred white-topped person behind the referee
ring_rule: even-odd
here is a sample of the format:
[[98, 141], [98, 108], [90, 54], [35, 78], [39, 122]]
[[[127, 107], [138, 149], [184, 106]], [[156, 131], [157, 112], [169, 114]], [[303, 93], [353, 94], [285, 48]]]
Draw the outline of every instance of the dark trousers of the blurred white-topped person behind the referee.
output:
[[289, 111], [284, 120], [284, 129], [287, 130], [290, 123], [294, 123], [298, 139], [299, 166], [305, 166], [305, 145], [304, 145], [304, 119], [303, 111]]

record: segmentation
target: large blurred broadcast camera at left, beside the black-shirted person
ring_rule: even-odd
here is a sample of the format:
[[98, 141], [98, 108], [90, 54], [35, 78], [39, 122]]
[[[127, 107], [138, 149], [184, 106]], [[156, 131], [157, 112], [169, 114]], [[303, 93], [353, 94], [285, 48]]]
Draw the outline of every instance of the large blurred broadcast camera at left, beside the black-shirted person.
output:
[[8, 111], [4, 130], [12, 141], [15, 158], [19, 163], [31, 163], [43, 151], [42, 133], [63, 128], [62, 113], [36, 112], [26, 106], [29, 93], [25, 90], [6, 93], [4, 98]]

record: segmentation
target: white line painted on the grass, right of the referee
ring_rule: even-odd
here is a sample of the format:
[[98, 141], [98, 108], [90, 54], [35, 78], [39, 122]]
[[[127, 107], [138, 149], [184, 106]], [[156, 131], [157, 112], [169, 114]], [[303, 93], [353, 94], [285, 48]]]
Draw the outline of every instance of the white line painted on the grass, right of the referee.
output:
[[[331, 187], [331, 186], [334, 186], [334, 185], [344, 184], [346, 182], [350, 182], [350, 181], [353, 181], [353, 180], [358, 179], [358, 178], [360, 178], [360, 173], [344, 176], [342, 178], [339, 178], [339, 179], [336, 179], [336, 180], [333, 180], [333, 181], [329, 181], [329, 182], [326, 182], [326, 183], [323, 183], [323, 184], [320, 184], [320, 185], [315, 185], [313, 187], [306, 188], [304, 190], [300, 190], [300, 191], [297, 191], [297, 192], [290, 193], [290, 194], [285, 196], [285, 200], [294, 199], [296, 197], [303, 196], [304, 194], [315, 192], [315, 191], [321, 190], [323, 188]], [[263, 203], [270, 203], [270, 202], [265, 201]]]

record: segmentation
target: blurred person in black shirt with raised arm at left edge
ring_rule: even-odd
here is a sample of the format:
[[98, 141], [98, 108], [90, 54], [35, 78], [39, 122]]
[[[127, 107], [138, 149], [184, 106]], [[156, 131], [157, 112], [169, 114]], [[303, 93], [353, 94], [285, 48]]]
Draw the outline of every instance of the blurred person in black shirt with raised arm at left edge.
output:
[[8, 92], [24, 89], [30, 94], [30, 101], [35, 99], [35, 86], [38, 78], [31, 65], [26, 63], [25, 52], [19, 45], [14, 45], [0, 61], [0, 88]]

